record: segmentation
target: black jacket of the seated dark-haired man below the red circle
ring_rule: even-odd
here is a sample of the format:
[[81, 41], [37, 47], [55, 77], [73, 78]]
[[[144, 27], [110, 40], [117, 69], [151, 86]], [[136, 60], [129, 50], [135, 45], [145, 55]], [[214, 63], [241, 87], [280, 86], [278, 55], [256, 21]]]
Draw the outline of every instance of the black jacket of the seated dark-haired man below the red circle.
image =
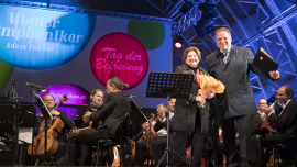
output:
[[117, 138], [120, 134], [118, 130], [121, 121], [130, 110], [130, 102], [122, 92], [110, 92], [102, 109], [91, 113], [90, 121], [102, 120], [102, 124], [98, 129], [108, 129], [110, 136]]

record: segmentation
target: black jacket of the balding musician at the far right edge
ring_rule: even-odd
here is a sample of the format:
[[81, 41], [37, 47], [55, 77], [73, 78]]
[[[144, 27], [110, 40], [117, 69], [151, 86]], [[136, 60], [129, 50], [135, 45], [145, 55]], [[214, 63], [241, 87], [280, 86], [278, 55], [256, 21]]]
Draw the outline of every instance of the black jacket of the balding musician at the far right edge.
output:
[[297, 104], [290, 100], [280, 116], [272, 113], [270, 116], [266, 116], [266, 120], [268, 123], [275, 125], [276, 133], [288, 140], [293, 136], [296, 127]]

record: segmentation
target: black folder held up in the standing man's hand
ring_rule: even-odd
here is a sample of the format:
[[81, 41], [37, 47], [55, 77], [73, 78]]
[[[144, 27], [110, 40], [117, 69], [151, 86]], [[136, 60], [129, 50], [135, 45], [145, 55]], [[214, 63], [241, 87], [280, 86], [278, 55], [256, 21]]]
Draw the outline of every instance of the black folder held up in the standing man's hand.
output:
[[267, 78], [271, 78], [270, 71], [277, 70], [279, 66], [262, 47], [256, 52], [253, 64]]

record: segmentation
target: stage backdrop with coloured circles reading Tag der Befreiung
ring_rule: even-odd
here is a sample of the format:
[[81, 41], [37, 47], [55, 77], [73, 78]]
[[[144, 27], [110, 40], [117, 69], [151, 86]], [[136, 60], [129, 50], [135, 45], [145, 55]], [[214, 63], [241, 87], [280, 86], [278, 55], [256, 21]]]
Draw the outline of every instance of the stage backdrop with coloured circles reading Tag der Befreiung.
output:
[[15, 80], [23, 102], [31, 101], [30, 82], [56, 102], [67, 94], [65, 104], [86, 104], [94, 89], [120, 77], [138, 105], [166, 102], [144, 94], [150, 71], [172, 73], [170, 25], [6, 5], [0, 15], [1, 92]]

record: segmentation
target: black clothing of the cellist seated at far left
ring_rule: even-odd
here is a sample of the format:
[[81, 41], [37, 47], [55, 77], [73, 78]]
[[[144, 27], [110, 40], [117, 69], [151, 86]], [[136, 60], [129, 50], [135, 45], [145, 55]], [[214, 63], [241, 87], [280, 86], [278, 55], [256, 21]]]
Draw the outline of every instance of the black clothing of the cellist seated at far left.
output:
[[[72, 130], [74, 129], [74, 123], [73, 121], [69, 119], [69, 116], [67, 115], [66, 112], [64, 111], [58, 111], [61, 114], [58, 115], [61, 118], [61, 120], [64, 123], [64, 127], [61, 131], [61, 133], [57, 135], [57, 140], [58, 140], [58, 148], [57, 152], [55, 153], [55, 160], [61, 159], [66, 151], [66, 142], [67, 142], [67, 135], [66, 135], [66, 130]], [[40, 127], [42, 122], [44, 120], [44, 116], [42, 114], [40, 114], [36, 119], [36, 124]]]

